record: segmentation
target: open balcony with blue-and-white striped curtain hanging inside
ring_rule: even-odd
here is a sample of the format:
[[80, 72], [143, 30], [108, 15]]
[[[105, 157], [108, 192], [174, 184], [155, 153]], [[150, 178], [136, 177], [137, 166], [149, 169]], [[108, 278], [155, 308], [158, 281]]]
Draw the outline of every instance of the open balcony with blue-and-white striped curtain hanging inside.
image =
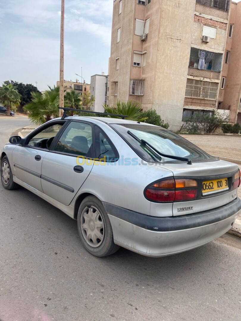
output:
[[219, 80], [222, 58], [222, 54], [191, 48], [188, 75]]

